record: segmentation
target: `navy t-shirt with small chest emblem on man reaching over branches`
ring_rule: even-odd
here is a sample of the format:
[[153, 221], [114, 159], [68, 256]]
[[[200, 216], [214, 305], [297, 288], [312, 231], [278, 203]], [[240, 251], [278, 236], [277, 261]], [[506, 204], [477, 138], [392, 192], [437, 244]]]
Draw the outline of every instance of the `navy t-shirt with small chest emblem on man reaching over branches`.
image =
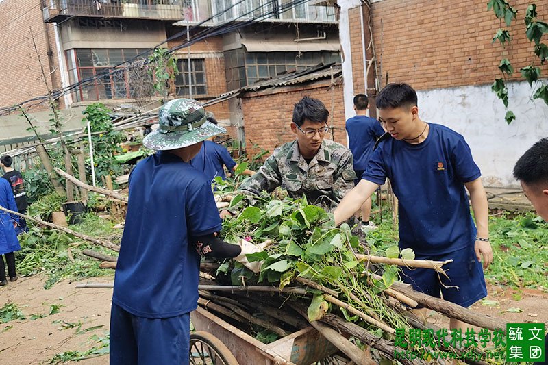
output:
[[464, 137], [430, 123], [421, 144], [390, 138], [371, 154], [362, 179], [390, 179], [399, 204], [399, 246], [421, 255], [450, 253], [475, 242], [464, 183], [481, 176]]

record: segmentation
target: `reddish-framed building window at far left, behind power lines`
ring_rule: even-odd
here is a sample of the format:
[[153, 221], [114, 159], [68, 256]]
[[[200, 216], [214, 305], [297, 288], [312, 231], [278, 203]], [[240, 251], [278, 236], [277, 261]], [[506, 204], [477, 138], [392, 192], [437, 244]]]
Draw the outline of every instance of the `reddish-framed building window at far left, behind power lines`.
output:
[[[78, 86], [73, 91], [74, 101], [97, 101], [101, 99], [131, 99], [134, 88], [130, 84], [138, 81], [152, 83], [150, 75], [142, 80], [129, 80], [128, 71], [123, 68], [132, 60], [147, 58], [147, 49], [71, 49], [66, 51], [71, 84], [92, 79], [94, 81]], [[123, 64], [122, 66], [119, 66]]]

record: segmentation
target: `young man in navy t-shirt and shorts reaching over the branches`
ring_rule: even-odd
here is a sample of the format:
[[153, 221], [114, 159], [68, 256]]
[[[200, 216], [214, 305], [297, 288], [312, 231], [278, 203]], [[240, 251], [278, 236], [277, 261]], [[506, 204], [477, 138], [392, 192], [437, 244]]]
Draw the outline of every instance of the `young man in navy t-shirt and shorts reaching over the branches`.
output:
[[[464, 138], [419, 118], [416, 92], [407, 84], [388, 84], [377, 96], [379, 121], [392, 138], [373, 151], [362, 180], [334, 212], [338, 225], [349, 218], [388, 177], [399, 199], [399, 247], [417, 260], [449, 260], [435, 270], [402, 269], [415, 290], [469, 307], [486, 297], [483, 267], [493, 261], [488, 205], [479, 168]], [[466, 190], [475, 216], [474, 225]], [[451, 328], [466, 323], [451, 318]]]

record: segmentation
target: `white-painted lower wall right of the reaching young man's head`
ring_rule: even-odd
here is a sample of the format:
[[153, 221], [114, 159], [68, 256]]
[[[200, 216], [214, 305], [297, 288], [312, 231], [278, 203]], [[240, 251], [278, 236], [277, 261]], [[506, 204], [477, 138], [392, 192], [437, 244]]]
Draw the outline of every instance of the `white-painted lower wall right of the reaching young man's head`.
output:
[[[412, 86], [412, 80], [410, 80]], [[540, 138], [548, 136], [548, 107], [531, 101], [527, 82], [508, 84], [510, 125], [506, 110], [490, 85], [417, 92], [423, 121], [446, 125], [462, 134], [482, 170], [485, 186], [519, 187], [512, 177], [516, 160]], [[346, 98], [345, 98], [346, 99]]]

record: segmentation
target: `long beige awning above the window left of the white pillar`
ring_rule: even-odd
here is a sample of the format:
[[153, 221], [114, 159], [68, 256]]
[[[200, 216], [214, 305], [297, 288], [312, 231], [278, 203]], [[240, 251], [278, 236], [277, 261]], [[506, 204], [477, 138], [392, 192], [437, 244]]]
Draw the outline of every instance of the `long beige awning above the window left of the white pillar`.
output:
[[313, 52], [313, 51], [340, 51], [340, 42], [334, 40], [318, 40], [313, 42], [293, 42], [292, 40], [269, 40], [245, 38], [242, 45], [248, 52]]

